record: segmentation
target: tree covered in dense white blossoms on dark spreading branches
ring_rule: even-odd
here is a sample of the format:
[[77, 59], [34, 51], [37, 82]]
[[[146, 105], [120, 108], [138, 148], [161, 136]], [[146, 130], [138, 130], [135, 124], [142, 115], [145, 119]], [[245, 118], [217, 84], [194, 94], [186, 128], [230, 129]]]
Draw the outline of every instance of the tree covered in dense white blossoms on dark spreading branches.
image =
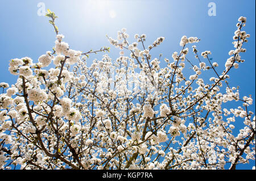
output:
[[[210, 51], [199, 54], [197, 37], [183, 36], [179, 52], [161, 60], [150, 51], [164, 37], [147, 47], [146, 35], [131, 39], [125, 28], [117, 39], [108, 37], [121, 49], [118, 58], [105, 54], [88, 66], [90, 53], [109, 48], [71, 49], [57, 16], [49, 10], [46, 16], [55, 47], [38, 61], [11, 60], [17, 81], [0, 84], [1, 169], [236, 169], [255, 159], [253, 100], [227, 81], [244, 61], [245, 17], [238, 19], [234, 49], [220, 71]], [[205, 79], [208, 71], [216, 76]], [[222, 107], [231, 101], [241, 106]]]

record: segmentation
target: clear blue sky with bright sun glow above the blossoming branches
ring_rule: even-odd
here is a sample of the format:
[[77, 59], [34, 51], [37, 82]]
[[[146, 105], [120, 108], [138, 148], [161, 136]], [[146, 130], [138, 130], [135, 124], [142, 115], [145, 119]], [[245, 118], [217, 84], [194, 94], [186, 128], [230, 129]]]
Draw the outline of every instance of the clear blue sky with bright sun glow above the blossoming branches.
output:
[[[213, 61], [220, 66], [219, 73], [229, 58], [229, 50], [233, 49], [232, 37], [237, 19], [246, 16], [247, 23], [243, 30], [250, 33], [251, 37], [244, 46], [247, 52], [241, 54], [245, 63], [229, 73], [233, 77], [229, 84], [240, 86], [241, 96], [251, 94], [255, 100], [254, 0], [2, 1], [0, 82], [8, 82], [10, 85], [15, 83], [16, 77], [8, 71], [11, 59], [28, 56], [37, 61], [39, 56], [54, 46], [53, 28], [45, 16], [38, 15], [40, 2], [59, 16], [56, 25], [72, 49], [87, 52], [108, 46], [111, 48], [110, 57], [117, 58], [119, 50], [109, 44], [105, 35], [116, 37], [117, 31], [125, 27], [130, 37], [135, 33], [145, 33], [148, 45], [157, 37], [164, 36], [164, 43], [152, 53], [155, 57], [163, 53], [163, 57], [171, 60], [172, 53], [180, 51], [179, 41], [183, 35], [197, 36], [201, 39], [197, 44], [199, 51], [212, 51]], [[216, 16], [208, 15], [210, 2], [216, 4]], [[131, 38], [130, 41], [133, 40]]]

